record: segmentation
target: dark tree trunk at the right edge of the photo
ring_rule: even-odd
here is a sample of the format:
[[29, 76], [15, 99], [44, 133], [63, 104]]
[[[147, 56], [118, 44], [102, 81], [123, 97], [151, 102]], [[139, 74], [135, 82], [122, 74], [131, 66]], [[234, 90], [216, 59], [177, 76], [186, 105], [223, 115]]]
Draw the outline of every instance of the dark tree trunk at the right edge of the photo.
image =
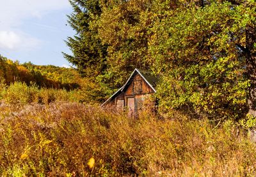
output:
[[255, 52], [255, 25], [251, 24], [246, 27], [246, 59], [247, 72], [250, 79], [250, 88], [248, 94], [248, 113], [256, 117], [256, 52]]

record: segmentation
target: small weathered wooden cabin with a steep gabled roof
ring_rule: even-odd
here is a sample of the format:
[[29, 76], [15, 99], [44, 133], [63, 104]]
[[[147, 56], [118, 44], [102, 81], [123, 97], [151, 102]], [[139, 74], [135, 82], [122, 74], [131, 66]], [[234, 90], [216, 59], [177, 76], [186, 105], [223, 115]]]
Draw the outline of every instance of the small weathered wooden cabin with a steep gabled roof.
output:
[[157, 78], [150, 71], [134, 69], [125, 85], [109, 97], [102, 106], [127, 107], [129, 115], [135, 116], [142, 109], [145, 97], [156, 93], [156, 81]]

